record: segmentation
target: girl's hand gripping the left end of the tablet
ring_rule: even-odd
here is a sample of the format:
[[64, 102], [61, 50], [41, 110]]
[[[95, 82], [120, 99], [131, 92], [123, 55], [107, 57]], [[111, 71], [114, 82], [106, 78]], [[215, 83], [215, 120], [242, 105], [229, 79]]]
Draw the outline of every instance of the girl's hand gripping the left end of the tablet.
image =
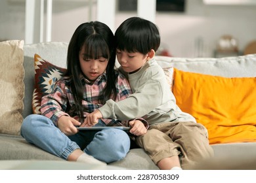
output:
[[75, 127], [75, 125], [80, 124], [80, 122], [74, 118], [71, 118], [70, 116], [61, 116], [58, 119], [58, 128], [67, 136], [77, 133], [78, 129]]

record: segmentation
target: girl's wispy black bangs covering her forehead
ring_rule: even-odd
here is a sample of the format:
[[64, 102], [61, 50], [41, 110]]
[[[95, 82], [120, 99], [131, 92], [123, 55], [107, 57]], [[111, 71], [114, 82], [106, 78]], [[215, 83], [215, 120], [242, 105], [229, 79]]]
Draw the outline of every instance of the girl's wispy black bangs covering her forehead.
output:
[[108, 59], [110, 54], [108, 44], [100, 37], [89, 37], [84, 42], [85, 56], [88, 59], [98, 59], [100, 57]]

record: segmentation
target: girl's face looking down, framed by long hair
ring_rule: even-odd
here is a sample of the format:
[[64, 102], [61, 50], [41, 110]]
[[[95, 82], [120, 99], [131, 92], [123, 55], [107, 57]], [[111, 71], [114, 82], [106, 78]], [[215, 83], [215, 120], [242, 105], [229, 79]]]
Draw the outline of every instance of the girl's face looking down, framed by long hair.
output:
[[90, 81], [95, 81], [98, 76], [102, 75], [108, 65], [108, 59], [101, 56], [97, 59], [90, 58], [83, 48], [79, 52], [79, 62], [83, 74]]

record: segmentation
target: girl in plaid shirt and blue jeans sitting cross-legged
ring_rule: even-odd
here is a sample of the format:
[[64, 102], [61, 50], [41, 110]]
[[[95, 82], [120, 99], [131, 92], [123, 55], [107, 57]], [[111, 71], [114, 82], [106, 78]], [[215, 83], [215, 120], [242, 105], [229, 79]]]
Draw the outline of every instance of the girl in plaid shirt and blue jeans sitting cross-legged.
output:
[[[56, 82], [51, 94], [42, 98], [42, 115], [32, 114], [24, 119], [22, 137], [68, 161], [106, 165], [124, 158], [130, 148], [125, 131], [76, 128], [108, 99], [119, 101], [131, 93], [129, 82], [114, 70], [115, 59], [114, 34], [106, 24], [79, 25], [68, 45], [66, 75]], [[100, 119], [97, 125], [128, 122]]]

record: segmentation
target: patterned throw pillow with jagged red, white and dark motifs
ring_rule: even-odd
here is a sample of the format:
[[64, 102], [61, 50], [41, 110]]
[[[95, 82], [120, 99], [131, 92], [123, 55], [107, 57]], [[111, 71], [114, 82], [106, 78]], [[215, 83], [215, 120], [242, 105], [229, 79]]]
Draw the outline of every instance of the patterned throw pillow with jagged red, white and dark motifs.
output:
[[66, 69], [45, 61], [39, 55], [34, 56], [35, 88], [33, 90], [33, 114], [41, 114], [41, 98], [53, 91], [54, 83], [62, 77]]

